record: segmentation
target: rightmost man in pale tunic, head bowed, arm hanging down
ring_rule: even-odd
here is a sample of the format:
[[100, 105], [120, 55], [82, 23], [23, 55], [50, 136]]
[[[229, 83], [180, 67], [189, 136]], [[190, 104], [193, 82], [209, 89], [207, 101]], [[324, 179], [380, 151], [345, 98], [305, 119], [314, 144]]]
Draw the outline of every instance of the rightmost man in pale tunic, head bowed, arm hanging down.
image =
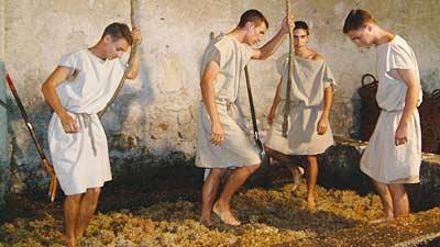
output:
[[373, 223], [409, 214], [405, 183], [419, 182], [421, 133], [417, 106], [421, 87], [416, 56], [399, 35], [381, 29], [367, 11], [352, 10], [343, 32], [359, 47], [376, 46], [382, 109], [361, 159], [381, 197], [383, 215]]

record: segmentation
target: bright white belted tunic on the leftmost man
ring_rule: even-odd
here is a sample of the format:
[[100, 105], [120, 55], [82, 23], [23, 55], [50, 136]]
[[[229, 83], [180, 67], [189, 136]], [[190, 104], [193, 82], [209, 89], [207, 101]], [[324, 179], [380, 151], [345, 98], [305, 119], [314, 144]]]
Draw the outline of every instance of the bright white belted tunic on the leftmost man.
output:
[[125, 66], [118, 58], [102, 60], [88, 49], [63, 56], [58, 65], [75, 71], [57, 94], [80, 130], [65, 133], [54, 113], [47, 134], [55, 173], [65, 194], [72, 195], [111, 180], [107, 137], [97, 113], [110, 101]]

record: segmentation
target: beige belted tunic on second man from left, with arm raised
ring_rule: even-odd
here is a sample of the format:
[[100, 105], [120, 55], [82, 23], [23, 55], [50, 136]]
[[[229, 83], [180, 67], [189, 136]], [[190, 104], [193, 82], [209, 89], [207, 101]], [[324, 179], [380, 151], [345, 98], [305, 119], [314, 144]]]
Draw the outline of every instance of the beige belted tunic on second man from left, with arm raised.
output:
[[200, 76], [217, 53], [220, 53], [220, 71], [215, 81], [215, 93], [224, 142], [220, 146], [211, 144], [211, 121], [204, 102], [200, 102], [196, 166], [228, 168], [258, 164], [257, 149], [246, 134], [243, 116], [235, 103], [243, 69], [251, 59], [252, 48], [233, 37], [220, 35], [205, 50]]

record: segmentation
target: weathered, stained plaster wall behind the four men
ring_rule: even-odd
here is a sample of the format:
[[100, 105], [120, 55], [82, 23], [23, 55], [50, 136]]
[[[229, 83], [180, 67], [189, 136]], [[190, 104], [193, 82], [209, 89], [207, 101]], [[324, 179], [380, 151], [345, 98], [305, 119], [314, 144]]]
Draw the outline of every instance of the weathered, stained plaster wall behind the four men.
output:
[[[113, 21], [130, 21], [129, 0], [1, 0], [0, 58], [16, 81], [37, 134], [46, 139], [51, 116], [40, 87], [65, 53], [94, 45]], [[334, 133], [358, 133], [361, 76], [374, 71], [375, 53], [359, 50], [342, 35], [342, 23], [352, 8], [371, 10], [378, 22], [414, 47], [419, 59], [424, 89], [439, 88], [440, 22], [438, 0], [296, 0], [293, 12], [311, 27], [310, 47], [320, 52], [339, 82], [331, 123]], [[143, 43], [141, 75], [127, 83], [103, 117], [113, 171], [130, 167], [123, 160], [154, 157], [191, 158], [196, 148], [196, 114], [200, 100], [199, 59], [209, 32], [228, 32], [246, 9], [260, 9], [270, 21], [267, 41], [285, 14], [282, 0], [139, 0], [134, 3]], [[1, 23], [6, 23], [1, 25]], [[272, 58], [251, 61], [256, 113], [263, 130], [278, 80], [276, 58], [287, 52], [284, 43]], [[2, 53], [0, 53], [2, 54]], [[244, 92], [244, 91], [243, 91]], [[243, 93], [242, 102], [246, 101]], [[11, 102], [11, 96], [9, 96]], [[248, 110], [248, 104], [243, 104]], [[249, 113], [246, 113], [249, 115]], [[13, 191], [45, 183], [44, 172], [25, 126], [10, 115]], [[1, 136], [1, 135], [0, 135]], [[47, 146], [47, 145], [46, 145]], [[153, 160], [153, 161], [152, 161]], [[26, 182], [24, 182], [26, 181]], [[40, 183], [38, 183], [40, 182]]]

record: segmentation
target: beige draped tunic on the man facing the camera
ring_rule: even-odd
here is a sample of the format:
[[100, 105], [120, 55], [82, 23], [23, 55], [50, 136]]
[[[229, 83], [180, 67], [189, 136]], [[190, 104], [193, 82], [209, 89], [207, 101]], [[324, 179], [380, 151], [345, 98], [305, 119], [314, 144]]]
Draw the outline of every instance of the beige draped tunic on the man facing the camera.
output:
[[285, 155], [322, 154], [333, 145], [330, 126], [323, 135], [318, 135], [317, 131], [323, 111], [323, 92], [326, 88], [336, 87], [337, 83], [329, 66], [322, 59], [311, 60], [296, 57], [294, 63], [287, 138], [283, 136], [288, 77], [288, 57], [286, 56], [279, 91], [282, 100], [276, 108], [265, 145]]

